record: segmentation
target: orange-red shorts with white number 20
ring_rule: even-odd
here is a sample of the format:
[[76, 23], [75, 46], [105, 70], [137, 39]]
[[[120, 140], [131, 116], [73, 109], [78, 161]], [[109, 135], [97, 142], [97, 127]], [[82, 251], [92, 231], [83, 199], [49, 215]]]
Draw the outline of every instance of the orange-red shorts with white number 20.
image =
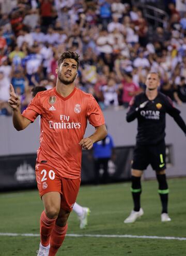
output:
[[59, 192], [61, 208], [66, 211], [72, 210], [79, 192], [81, 178], [66, 179], [60, 177], [56, 169], [48, 165], [37, 164], [36, 180], [41, 197], [48, 192]]

